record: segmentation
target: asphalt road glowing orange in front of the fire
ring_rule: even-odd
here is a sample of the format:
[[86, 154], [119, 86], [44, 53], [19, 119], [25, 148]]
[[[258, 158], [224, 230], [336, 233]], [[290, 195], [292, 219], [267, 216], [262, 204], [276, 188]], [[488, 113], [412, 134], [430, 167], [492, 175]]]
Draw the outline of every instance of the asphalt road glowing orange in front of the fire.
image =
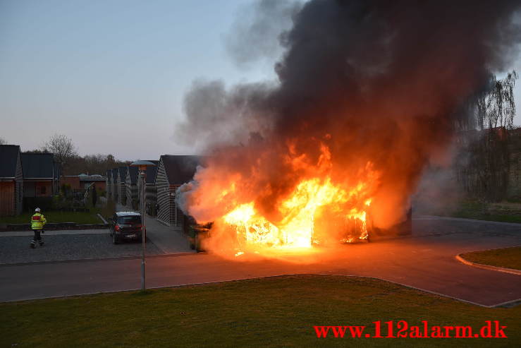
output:
[[[521, 245], [521, 224], [422, 218], [414, 235], [321, 251], [309, 263], [226, 260], [209, 254], [152, 257], [147, 287], [295, 273], [378, 277], [483, 306], [521, 299], [521, 276], [462, 265], [455, 255]], [[140, 288], [140, 260], [0, 266], [0, 301]]]

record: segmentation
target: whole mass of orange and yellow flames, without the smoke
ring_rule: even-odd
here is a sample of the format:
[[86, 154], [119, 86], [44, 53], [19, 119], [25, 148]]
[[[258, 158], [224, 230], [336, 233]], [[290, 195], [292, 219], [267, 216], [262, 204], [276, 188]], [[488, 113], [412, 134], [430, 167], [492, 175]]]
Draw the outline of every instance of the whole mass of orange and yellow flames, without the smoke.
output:
[[379, 182], [372, 163], [335, 181], [331, 152], [324, 143], [319, 144], [317, 162], [298, 155], [292, 143], [286, 149], [283, 159], [300, 177], [286, 195], [272, 202], [269, 216], [259, 208], [258, 201], [269, 194], [270, 188], [254, 195], [251, 192], [250, 183], [259, 181], [258, 177], [220, 175], [212, 167], [202, 171], [199, 179], [204, 186], [191, 192], [200, 191], [201, 196], [190, 208], [200, 222], [205, 222], [201, 219], [205, 215], [214, 217], [212, 234], [216, 238], [210, 248], [242, 256], [247, 251], [306, 252], [314, 245], [367, 239], [369, 209]]

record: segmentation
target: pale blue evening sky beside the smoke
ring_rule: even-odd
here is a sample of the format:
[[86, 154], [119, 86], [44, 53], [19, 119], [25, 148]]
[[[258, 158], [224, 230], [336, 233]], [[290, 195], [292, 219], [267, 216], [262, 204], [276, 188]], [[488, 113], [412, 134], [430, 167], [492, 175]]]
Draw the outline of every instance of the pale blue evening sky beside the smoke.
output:
[[[275, 78], [226, 50], [251, 2], [0, 0], [0, 137], [31, 150], [65, 134], [80, 155], [120, 160], [195, 154], [174, 137], [194, 80]], [[521, 125], [521, 80], [515, 95]]]

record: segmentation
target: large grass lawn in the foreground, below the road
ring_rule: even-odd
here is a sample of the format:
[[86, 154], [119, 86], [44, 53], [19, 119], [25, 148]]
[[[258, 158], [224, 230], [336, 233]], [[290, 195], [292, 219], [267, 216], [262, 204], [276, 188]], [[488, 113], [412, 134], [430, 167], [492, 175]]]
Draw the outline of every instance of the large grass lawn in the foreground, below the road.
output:
[[[515, 347], [521, 306], [483, 308], [381, 280], [301, 275], [0, 304], [0, 347]], [[508, 338], [317, 338], [314, 325], [484, 325]]]

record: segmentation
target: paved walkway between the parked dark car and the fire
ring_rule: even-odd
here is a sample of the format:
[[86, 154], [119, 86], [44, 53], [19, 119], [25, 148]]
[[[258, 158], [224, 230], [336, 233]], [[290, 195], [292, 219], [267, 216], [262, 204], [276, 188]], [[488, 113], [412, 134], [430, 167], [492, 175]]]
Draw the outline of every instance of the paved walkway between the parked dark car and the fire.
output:
[[[116, 210], [118, 212], [125, 212], [130, 209], [117, 204]], [[154, 242], [163, 253], [195, 253], [195, 251], [190, 248], [190, 242], [183, 235], [179, 227], [166, 226], [157, 221], [155, 217], [149, 215], [145, 217], [145, 226], [147, 227], [147, 238]]]

